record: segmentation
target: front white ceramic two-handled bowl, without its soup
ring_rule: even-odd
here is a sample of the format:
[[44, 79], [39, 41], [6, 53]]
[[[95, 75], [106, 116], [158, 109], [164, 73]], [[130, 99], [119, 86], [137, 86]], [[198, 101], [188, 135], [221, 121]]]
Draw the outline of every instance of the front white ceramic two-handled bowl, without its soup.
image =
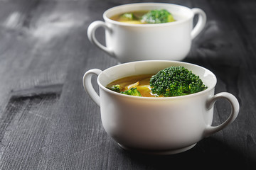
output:
[[[208, 89], [186, 96], [151, 98], [119, 94], [107, 89], [110, 82], [138, 74], [156, 74], [170, 66], [183, 66], [198, 75]], [[100, 96], [92, 86], [97, 75]], [[102, 125], [124, 149], [156, 154], [174, 154], [191, 149], [204, 137], [223, 130], [238, 116], [237, 98], [228, 92], [214, 94], [217, 82], [213, 72], [196, 64], [163, 60], [118, 64], [105, 69], [90, 69], [82, 79], [87, 94], [100, 106]], [[213, 105], [219, 98], [230, 102], [230, 115], [212, 126]]]

